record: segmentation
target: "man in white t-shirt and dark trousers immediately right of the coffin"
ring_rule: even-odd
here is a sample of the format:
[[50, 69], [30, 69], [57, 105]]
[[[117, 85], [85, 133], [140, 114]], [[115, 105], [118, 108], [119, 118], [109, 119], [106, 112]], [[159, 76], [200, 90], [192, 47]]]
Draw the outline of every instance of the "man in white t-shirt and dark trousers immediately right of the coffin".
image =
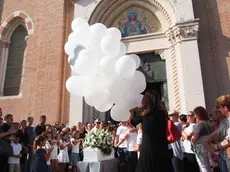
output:
[[[126, 122], [122, 121], [120, 123], [120, 126], [117, 128], [115, 146], [121, 141], [121, 139], [124, 137], [127, 131], [128, 131], [128, 127], [126, 126]], [[124, 141], [122, 144], [118, 146], [117, 154], [118, 154], [120, 172], [126, 172], [125, 171], [127, 168], [127, 142], [126, 141]]]

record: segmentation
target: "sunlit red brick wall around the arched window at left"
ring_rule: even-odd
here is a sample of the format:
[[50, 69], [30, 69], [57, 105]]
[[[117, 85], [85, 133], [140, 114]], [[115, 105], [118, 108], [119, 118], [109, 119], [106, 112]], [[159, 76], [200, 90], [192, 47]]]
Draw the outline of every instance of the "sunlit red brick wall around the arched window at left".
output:
[[60, 117], [62, 64], [66, 60], [63, 57], [64, 3], [64, 0], [4, 2], [1, 23], [19, 10], [28, 14], [34, 24], [24, 60], [22, 98], [0, 99], [4, 114], [12, 113], [17, 121], [26, 118], [28, 113], [36, 118], [46, 115], [48, 122]]

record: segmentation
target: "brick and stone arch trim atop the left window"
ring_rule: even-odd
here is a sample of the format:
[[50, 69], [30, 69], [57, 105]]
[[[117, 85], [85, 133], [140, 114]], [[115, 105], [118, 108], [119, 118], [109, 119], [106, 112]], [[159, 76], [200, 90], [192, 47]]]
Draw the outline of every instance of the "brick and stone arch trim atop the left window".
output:
[[15, 11], [2, 22], [2, 25], [0, 26], [0, 39], [3, 39], [7, 33], [7, 28], [16, 18], [21, 18], [25, 22], [28, 35], [34, 33], [34, 24], [32, 19], [23, 11]]

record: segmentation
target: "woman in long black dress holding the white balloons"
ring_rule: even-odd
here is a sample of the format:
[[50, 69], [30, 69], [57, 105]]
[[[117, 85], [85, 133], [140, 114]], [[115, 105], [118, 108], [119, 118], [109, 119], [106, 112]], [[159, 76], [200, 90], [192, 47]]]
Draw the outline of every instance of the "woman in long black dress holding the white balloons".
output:
[[142, 123], [143, 127], [136, 172], [173, 172], [166, 137], [167, 118], [157, 92], [144, 94], [141, 115], [131, 117], [131, 123]]

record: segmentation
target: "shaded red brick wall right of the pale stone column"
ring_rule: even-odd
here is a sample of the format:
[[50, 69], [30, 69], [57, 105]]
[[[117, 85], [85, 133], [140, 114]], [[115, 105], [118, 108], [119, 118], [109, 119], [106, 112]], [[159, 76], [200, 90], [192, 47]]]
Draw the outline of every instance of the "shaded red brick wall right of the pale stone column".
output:
[[199, 51], [207, 108], [216, 97], [230, 93], [230, 3], [229, 0], [193, 0], [200, 19]]

